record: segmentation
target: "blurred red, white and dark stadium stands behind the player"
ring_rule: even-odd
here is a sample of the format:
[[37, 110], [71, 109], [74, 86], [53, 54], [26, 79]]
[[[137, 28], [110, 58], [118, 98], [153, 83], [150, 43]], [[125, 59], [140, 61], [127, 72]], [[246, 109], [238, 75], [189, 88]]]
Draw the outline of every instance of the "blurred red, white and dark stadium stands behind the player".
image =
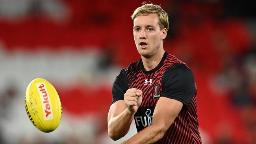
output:
[[[116, 144], [111, 87], [139, 59], [130, 15], [141, 0], [0, 0], [0, 144]], [[253, 1], [152, 0], [170, 16], [164, 48], [193, 70], [203, 144], [256, 144]], [[63, 117], [37, 130], [24, 108], [30, 81], [57, 89]]]

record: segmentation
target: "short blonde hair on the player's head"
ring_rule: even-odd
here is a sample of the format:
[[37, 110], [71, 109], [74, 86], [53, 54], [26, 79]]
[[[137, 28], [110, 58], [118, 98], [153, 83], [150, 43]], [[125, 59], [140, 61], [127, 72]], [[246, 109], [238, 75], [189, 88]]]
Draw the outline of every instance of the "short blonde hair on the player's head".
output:
[[135, 9], [131, 18], [132, 18], [132, 21], [134, 21], [134, 19], [139, 15], [149, 15], [152, 13], [156, 13], [158, 15], [158, 20], [159, 20], [158, 24], [160, 26], [160, 30], [163, 30], [163, 28], [166, 28], [168, 31], [169, 29], [168, 14], [166, 13], [166, 11], [162, 9], [161, 6], [143, 3], [143, 6]]

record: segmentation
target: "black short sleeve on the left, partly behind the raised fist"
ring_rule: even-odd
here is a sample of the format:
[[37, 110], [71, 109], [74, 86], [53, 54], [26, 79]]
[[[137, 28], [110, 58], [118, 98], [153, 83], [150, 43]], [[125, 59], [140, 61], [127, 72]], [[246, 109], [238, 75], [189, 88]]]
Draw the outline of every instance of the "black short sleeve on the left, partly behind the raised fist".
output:
[[121, 70], [120, 74], [115, 78], [112, 87], [112, 103], [118, 100], [124, 100], [124, 94], [128, 90], [128, 80], [125, 70]]

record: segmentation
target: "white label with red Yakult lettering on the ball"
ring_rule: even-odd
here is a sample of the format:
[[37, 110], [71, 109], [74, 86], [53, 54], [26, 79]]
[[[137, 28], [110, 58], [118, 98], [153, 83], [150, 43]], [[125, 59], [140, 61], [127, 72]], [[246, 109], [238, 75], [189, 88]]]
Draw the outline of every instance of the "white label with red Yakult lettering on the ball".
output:
[[53, 114], [52, 114], [52, 105], [49, 97], [49, 93], [45, 87], [45, 83], [37, 83], [37, 90], [39, 92], [41, 102], [43, 105], [43, 113], [45, 116], [45, 120], [52, 120]]

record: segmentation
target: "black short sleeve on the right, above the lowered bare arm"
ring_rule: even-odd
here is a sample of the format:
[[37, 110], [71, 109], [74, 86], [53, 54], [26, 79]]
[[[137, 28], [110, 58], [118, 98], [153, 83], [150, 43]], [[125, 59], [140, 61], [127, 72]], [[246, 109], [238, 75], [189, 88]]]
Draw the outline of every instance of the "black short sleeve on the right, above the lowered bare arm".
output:
[[189, 105], [196, 92], [195, 79], [187, 65], [175, 64], [165, 71], [161, 96]]

